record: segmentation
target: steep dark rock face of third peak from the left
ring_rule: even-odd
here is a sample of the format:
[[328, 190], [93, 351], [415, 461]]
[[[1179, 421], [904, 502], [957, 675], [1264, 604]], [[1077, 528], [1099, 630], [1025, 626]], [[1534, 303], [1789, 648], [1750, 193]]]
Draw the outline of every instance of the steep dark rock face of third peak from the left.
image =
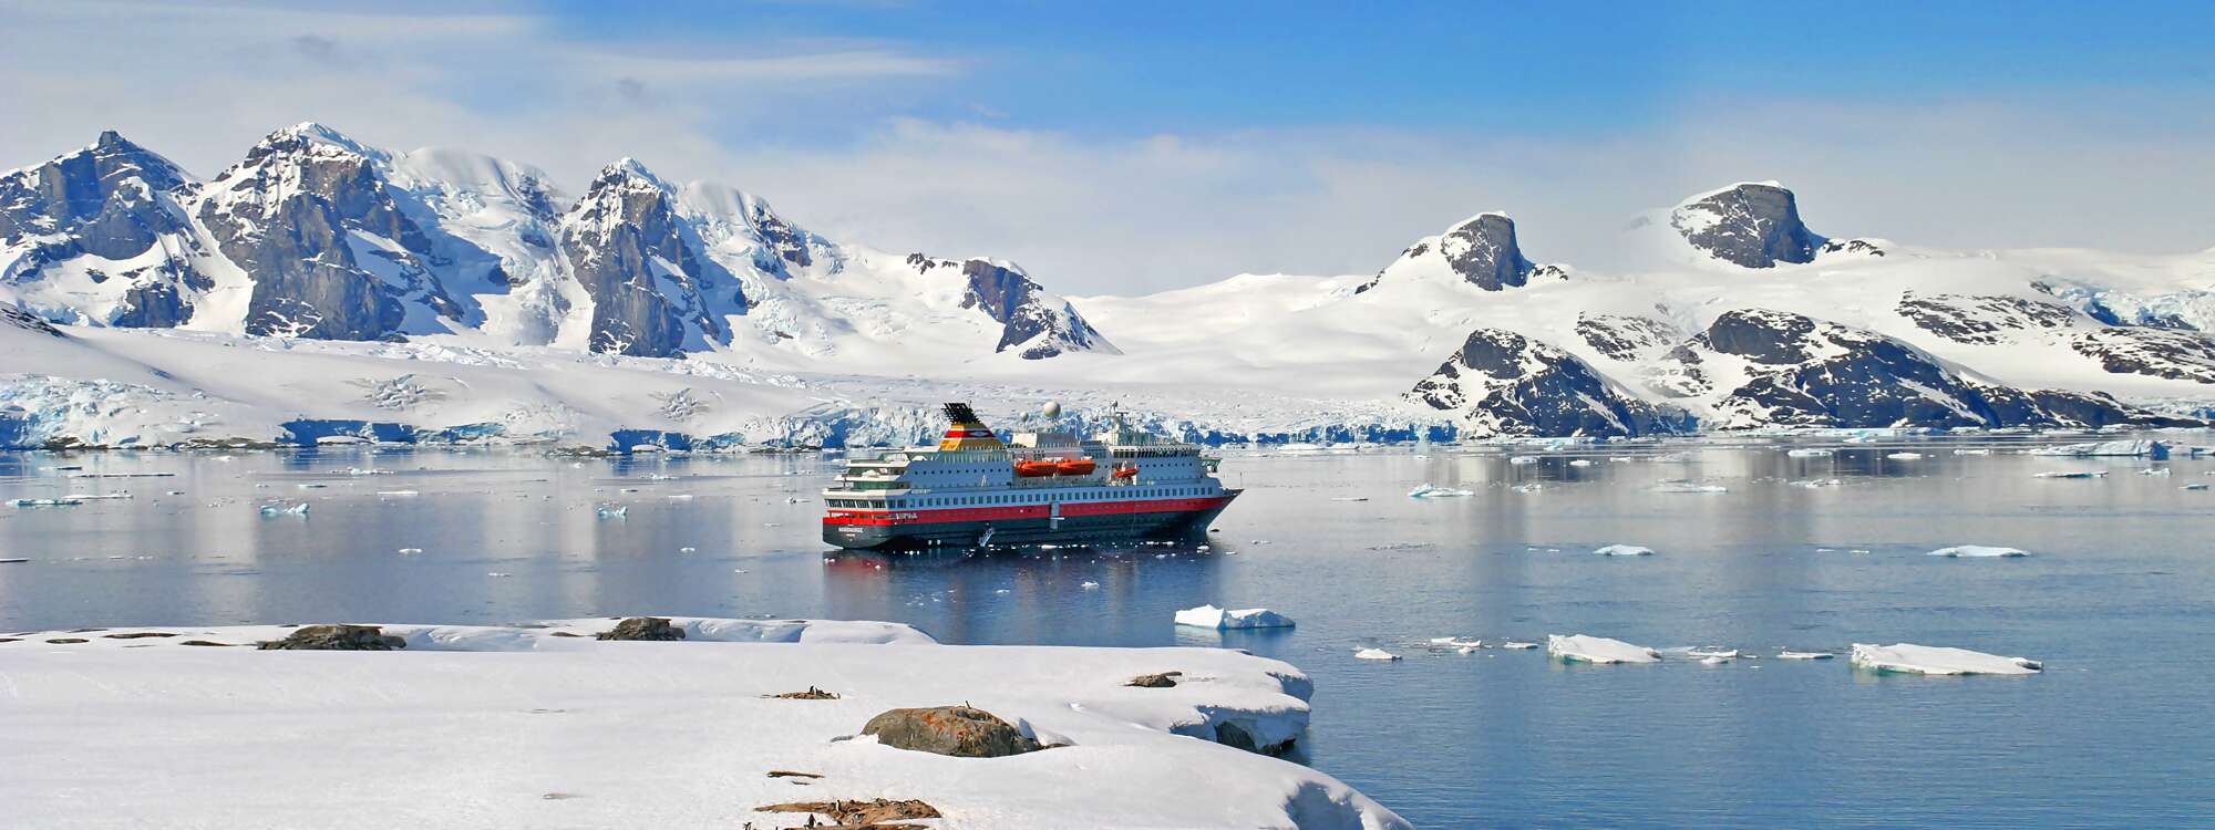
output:
[[[746, 305], [738, 279], [700, 255], [669, 193], [620, 164], [600, 170], [563, 217], [563, 250], [594, 301], [594, 352], [678, 356], [687, 323], [727, 341], [722, 321], [702, 310], [704, 288], [729, 290], [738, 310]], [[676, 272], [656, 268], [656, 259]]]

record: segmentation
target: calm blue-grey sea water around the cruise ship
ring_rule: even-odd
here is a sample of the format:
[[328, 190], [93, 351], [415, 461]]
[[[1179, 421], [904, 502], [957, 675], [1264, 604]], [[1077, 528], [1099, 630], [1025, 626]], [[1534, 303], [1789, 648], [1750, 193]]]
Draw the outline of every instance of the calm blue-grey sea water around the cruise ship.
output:
[[[815, 489], [833, 463], [815, 456], [13, 454], [0, 498], [135, 498], [0, 509], [0, 558], [29, 560], [0, 564], [0, 631], [680, 613], [899, 620], [944, 642], [1223, 644], [1313, 675], [1307, 761], [1431, 828], [2215, 826], [2215, 491], [2182, 489], [2215, 483], [2215, 463], [2140, 476], [2142, 460], [1954, 447], [1788, 458], [1694, 443], [1531, 465], [1234, 454], [1225, 478], [1247, 494], [1212, 551], [966, 558], [826, 556]], [[1898, 449], [1929, 456], [1885, 458]], [[2111, 476], [2033, 476], [2044, 469]], [[66, 478], [131, 471], [175, 476]], [[1807, 478], [1838, 485], [1794, 485]], [[1659, 491], [1666, 480], [1728, 491]], [[1475, 496], [1407, 498], [1420, 483]], [[306, 518], [257, 511], [301, 500]], [[1610, 542], [1657, 553], [1590, 553]], [[1925, 556], [1947, 544], [2033, 556]], [[1170, 624], [1201, 602], [1300, 626]], [[1424, 649], [1546, 633], [1763, 655], [1918, 642], [2036, 657], [2047, 673]], [[1360, 646], [1407, 660], [1360, 662]]]

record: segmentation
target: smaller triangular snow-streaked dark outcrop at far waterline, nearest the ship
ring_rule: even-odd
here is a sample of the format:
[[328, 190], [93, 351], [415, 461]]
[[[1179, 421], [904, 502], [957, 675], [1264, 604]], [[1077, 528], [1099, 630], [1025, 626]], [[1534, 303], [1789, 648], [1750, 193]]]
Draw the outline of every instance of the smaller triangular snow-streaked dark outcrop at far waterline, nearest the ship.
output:
[[1575, 354], [1495, 328], [1471, 332], [1407, 398], [1457, 412], [1471, 434], [1644, 436], [1692, 425], [1608, 383]]

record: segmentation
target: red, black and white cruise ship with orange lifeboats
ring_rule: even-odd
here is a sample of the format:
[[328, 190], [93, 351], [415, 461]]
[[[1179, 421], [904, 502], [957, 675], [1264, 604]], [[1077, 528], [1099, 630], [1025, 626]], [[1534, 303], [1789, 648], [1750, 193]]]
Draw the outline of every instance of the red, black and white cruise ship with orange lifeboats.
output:
[[[1057, 405], [1045, 407], [1059, 416]], [[937, 447], [848, 458], [824, 489], [824, 542], [848, 549], [990, 547], [1183, 538], [1238, 498], [1201, 447], [1130, 429], [1017, 432], [1006, 443], [968, 403], [946, 405]]]

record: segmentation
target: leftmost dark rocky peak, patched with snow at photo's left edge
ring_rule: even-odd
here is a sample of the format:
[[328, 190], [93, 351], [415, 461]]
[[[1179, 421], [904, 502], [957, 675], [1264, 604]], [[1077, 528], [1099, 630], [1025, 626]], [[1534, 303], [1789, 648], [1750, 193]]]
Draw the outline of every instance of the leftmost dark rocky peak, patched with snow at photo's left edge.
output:
[[91, 148], [0, 177], [0, 246], [42, 237], [0, 281], [40, 279], [47, 266], [75, 257], [137, 259], [168, 246], [159, 261], [122, 272], [91, 270], [95, 283], [128, 286], [106, 325], [177, 325], [190, 317], [188, 294], [213, 288], [193, 268], [195, 241], [182, 201], [195, 184], [168, 159], [115, 131]]

